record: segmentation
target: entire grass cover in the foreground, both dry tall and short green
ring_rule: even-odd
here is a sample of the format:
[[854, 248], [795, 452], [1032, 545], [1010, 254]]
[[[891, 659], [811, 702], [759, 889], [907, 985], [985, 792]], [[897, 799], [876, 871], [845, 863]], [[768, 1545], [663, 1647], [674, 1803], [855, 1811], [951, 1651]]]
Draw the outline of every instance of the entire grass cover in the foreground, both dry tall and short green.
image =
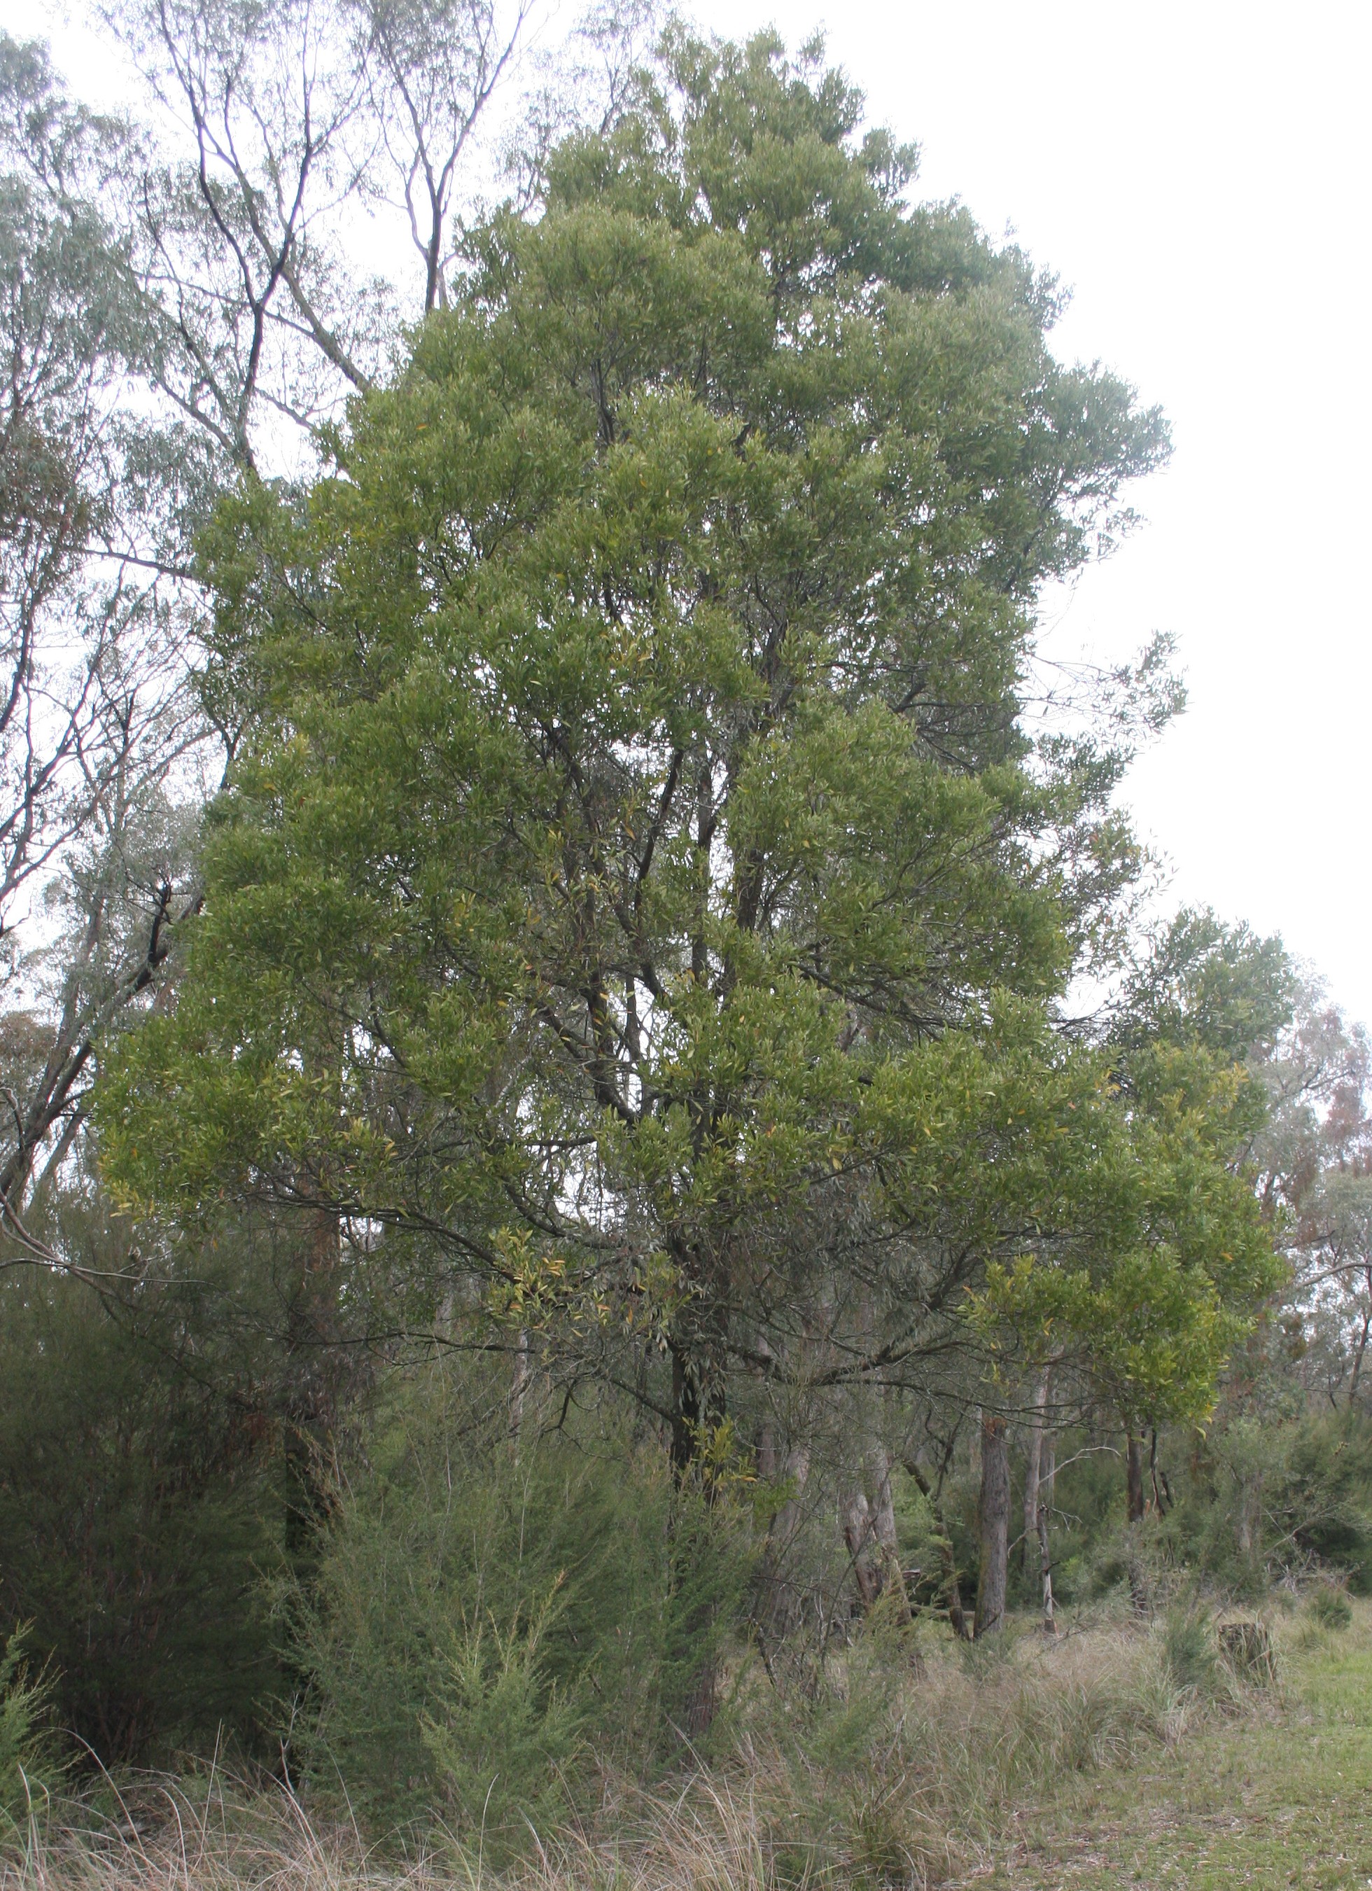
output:
[[1346, 1630], [1281, 1622], [1268, 1689], [1204, 1662], [1187, 1681], [1189, 1634], [1079, 1624], [943, 1643], [922, 1672], [909, 1651], [854, 1660], [799, 1717], [760, 1689], [728, 1762], [656, 1793], [607, 1779], [599, 1812], [508, 1874], [442, 1830], [418, 1857], [369, 1849], [280, 1787], [210, 1772], [34, 1821], [0, 1848], [0, 1891], [1366, 1891], [1372, 1609]]

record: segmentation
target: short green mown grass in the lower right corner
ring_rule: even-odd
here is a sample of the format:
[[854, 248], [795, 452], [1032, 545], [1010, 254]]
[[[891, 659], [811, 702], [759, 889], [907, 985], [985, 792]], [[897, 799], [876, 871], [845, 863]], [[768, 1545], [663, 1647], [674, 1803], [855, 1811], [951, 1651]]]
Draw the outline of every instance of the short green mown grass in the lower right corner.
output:
[[1266, 1706], [1024, 1821], [986, 1891], [1372, 1887], [1372, 1621], [1283, 1638]]

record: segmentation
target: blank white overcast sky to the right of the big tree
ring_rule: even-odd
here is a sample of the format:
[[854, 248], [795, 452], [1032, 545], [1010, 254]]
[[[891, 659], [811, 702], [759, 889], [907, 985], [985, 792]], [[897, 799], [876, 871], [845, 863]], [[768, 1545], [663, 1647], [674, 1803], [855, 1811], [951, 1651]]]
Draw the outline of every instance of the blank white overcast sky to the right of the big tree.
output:
[[[1051, 649], [1109, 662], [1153, 630], [1177, 637], [1191, 707], [1128, 787], [1172, 866], [1168, 898], [1279, 930], [1372, 1023], [1372, 9], [684, 9], [722, 34], [775, 23], [792, 43], [826, 26], [869, 115], [920, 142], [920, 193], [1013, 227], [1073, 289], [1058, 352], [1162, 403], [1175, 458], [1138, 492], [1147, 524], [1049, 601]], [[11, 30], [57, 26], [59, 62], [98, 89], [91, 42], [42, 0], [28, 19], [15, 0], [0, 11]]]

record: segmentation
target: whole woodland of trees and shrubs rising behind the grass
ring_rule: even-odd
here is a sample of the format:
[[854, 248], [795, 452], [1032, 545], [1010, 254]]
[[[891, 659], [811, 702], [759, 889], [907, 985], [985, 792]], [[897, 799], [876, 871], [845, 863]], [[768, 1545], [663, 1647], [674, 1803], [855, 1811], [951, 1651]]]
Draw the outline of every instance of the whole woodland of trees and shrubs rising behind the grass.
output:
[[1039, 660], [1168, 454], [1056, 284], [820, 45], [106, 26], [0, 42], [11, 1704], [516, 1844], [754, 1657], [1372, 1581], [1368, 1046], [1151, 915], [1168, 647]]

